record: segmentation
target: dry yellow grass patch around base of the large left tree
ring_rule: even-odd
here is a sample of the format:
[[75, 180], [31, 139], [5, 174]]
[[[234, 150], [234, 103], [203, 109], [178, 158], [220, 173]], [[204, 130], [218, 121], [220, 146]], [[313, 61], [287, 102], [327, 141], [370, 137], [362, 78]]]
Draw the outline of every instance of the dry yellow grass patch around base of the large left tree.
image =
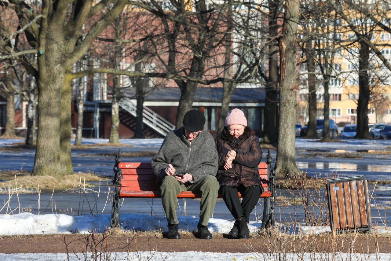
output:
[[[31, 175], [20, 175], [14, 177], [13, 180], [0, 182], [0, 190], [6, 191], [10, 186], [15, 189], [76, 189], [79, 186], [91, 187], [89, 182], [106, 180], [105, 177], [95, 175], [93, 173], [78, 172], [72, 175], [66, 175], [61, 180], [52, 176], [31, 176]], [[11, 184], [11, 185], [10, 185]], [[17, 184], [17, 185], [15, 185]], [[20, 193], [20, 192], [18, 192]]]

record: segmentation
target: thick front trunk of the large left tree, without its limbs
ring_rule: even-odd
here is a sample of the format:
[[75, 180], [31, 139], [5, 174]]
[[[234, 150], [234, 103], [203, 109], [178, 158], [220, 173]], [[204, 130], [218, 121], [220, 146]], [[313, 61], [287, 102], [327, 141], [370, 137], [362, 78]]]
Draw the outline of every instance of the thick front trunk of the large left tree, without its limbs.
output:
[[[38, 54], [38, 135], [32, 175], [61, 178], [60, 121], [61, 96], [65, 81], [62, 66], [64, 39], [56, 25], [47, 28], [41, 53]], [[70, 102], [70, 101], [69, 101]], [[68, 133], [70, 135], [70, 132]]]

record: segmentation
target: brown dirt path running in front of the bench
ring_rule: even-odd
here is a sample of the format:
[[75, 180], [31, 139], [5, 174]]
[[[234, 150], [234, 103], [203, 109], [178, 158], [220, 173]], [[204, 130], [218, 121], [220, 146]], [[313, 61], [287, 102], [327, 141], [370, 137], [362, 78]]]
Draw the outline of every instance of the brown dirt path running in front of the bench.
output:
[[[64, 238], [65, 242], [64, 243]], [[250, 239], [233, 239], [230, 236], [215, 234], [213, 239], [205, 240], [196, 238], [188, 233], [181, 236], [182, 239], [166, 239], [156, 237], [124, 237], [107, 236], [102, 240], [102, 234], [95, 235], [97, 251], [103, 249], [109, 252], [133, 252], [160, 251], [160, 252], [186, 252], [189, 250], [202, 252], [332, 252], [332, 243], [329, 235], [308, 236], [304, 239], [293, 239], [292, 236], [279, 239], [274, 242], [273, 237], [261, 237]], [[91, 239], [91, 238], [90, 238]], [[378, 240], [378, 252], [389, 253], [391, 241], [389, 238], [380, 237]], [[91, 241], [91, 240], [90, 240]], [[269, 241], [269, 242], [267, 242]], [[273, 241], [272, 243], [270, 241]], [[305, 242], [304, 242], [305, 241]], [[0, 238], [0, 252], [12, 253], [69, 253], [83, 252], [86, 250], [86, 239], [79, 234], [66, 235], [39, 235], [39, 236], [5, 236]], [[356, 253], [376, 252], [376, 241], [373, 235], [361, 235], [351, 245], [349, 237], [339, 238], [334, 251]], [[94, 244], [92, 244], [94, 245]], [[88, 252], [91, 252], [88, 246]]]

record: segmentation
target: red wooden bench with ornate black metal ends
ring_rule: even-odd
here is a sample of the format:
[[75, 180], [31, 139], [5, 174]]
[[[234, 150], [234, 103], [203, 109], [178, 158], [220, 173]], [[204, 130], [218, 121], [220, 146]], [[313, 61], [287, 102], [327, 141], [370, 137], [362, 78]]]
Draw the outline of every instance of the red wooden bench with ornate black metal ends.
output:
[[[261, 162], [259, 164], [259, 174], [262, 186], [265, 191], [260, 195], [265, 198], [264, 217], [262, 227], [273, 225], [273, 196], [274, 196], [274, 176], [270, 175], [273, 171], [271, 167], [272, 158], [270, 150], [268, 153], [269, 164]], [[111, 210], [110, 226], [116, 227], [120, 222], [118, 213], [118, 203], [120, 198], [160, 198], [160, 189], [156, 184], [156, 175], [151, 169], [150, 162], [122, 162], [121, 149], [115, 157], [114, 165], [114, 196], [113, 207]], [[272, 192], [273, 191], [273, 192]], [[240, 193], [238, 193], [239, 196]], [[178, 198], [201, 198], [201, 194], [184, 191], [178, 194]], [[218, 196], [221, 198], [221, 195]], [[265, 222], [265, 223], [264, 223]]]

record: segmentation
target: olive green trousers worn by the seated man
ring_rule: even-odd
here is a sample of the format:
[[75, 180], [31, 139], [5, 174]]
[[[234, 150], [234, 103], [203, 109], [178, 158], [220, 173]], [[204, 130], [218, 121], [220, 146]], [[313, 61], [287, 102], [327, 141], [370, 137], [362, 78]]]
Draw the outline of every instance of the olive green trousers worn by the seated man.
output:
[[168, 223], [179, 223], [176, 217], [176, 208], [178, 206], [176, 196], [182, 191], [192, 191], [201, 194], [199, 223], [203, 226], [208, 225], [209, 218], [212, 216], [213, 209], [216, 205], [219, 187], [219, 182], [212, 175], [205, 175], [197, 182], [186, 182], [185, 184], [179, 184], [174, 176], [165, 176], [160, 185], [160, 191], [161, 203], [166, 212]]

